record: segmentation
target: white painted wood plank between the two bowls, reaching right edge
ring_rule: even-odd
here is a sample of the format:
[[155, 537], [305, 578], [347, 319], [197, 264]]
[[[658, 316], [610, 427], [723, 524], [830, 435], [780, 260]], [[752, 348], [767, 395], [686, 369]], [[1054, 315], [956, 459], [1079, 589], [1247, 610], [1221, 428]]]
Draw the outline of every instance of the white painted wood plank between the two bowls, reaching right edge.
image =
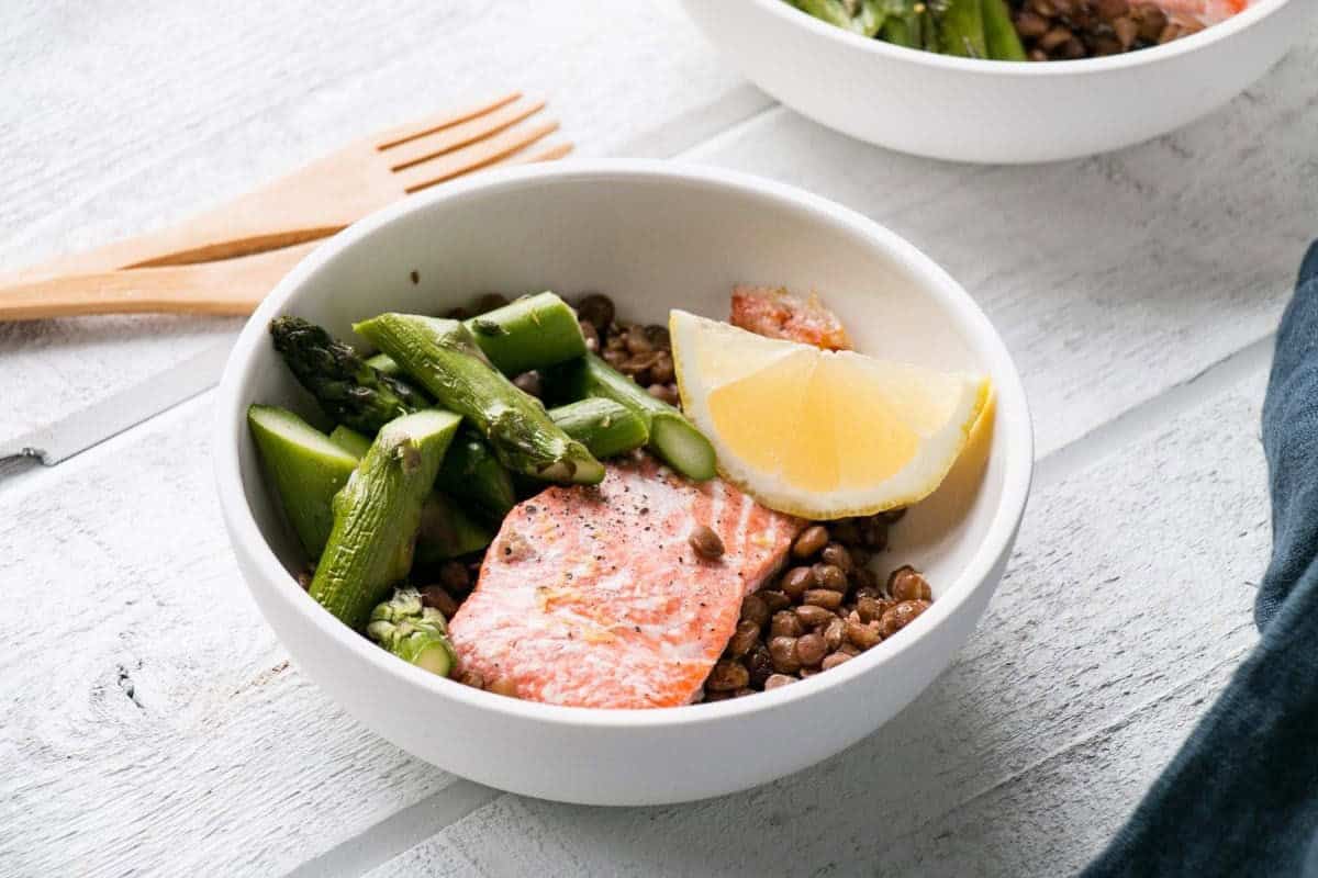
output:
[[1273, 329], [1318, 234], [1314, 82], [1318, 18], [1227, 108], [1111, 155], [949, 165], [779, 109], [691, 158], [833, 197], [944, 265], [1016, 357], [1044, 454]]

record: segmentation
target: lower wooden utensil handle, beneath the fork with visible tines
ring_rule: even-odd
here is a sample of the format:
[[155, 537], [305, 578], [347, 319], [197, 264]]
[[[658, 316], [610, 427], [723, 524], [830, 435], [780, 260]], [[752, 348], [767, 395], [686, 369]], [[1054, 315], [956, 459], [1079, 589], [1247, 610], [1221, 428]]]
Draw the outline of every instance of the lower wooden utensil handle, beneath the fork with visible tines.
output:
[[0, 286], [0, 321], [144, 312], [249, 315], [315, 246], [199, 265], [21, 279]]

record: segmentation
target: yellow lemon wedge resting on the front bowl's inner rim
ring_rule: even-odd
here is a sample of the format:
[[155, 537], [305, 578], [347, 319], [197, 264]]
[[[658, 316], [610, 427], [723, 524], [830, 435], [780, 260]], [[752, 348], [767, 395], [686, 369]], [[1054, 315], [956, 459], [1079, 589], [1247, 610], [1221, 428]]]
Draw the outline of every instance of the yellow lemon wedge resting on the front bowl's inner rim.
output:
[[764, 338], [684, 311], [668, 329], [683, 409], [713, 442], [720, 473], [808, 519], [924, 499], [991, 398], [982, 375]]

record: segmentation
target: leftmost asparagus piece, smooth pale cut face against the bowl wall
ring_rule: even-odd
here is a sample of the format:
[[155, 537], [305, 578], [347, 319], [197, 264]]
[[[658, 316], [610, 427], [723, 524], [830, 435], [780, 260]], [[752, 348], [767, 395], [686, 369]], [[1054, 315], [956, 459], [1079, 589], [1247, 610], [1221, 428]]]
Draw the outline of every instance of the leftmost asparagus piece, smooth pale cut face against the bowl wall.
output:
[[357, 467], [357, 457], [293, 412], [273, 405], [248, 408], [248, 426], [261, 454], [266, 483], [307, 557], [319, 558], [333, 528], [330, 502]]

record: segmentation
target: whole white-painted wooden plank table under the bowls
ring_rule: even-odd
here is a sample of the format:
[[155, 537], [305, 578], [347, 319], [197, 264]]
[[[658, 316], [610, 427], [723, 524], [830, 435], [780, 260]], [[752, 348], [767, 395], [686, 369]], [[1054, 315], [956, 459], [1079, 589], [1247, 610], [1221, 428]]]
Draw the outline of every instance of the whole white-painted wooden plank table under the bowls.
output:
[[[1024, 375], [1031, 508], [975, 637], [869, 740], [724, 799], [569, 807], [409, 757], [289, 666], [220, 524], [202, 392], [0, 478], [0, 874], [1057, 875], [1101, 846], [1255, 640], [1259, 404], [1318, 234], [1318, 28], [1180, 133], [992, 168], [805, 121], [668, 1], [232, 5], [3, 5], [0, 270], [464, 96], [534, 90], [580, 154], [778, 178], [945, 265]], [[237, 326], [0, 325], [0, 441], [177, 374]]]

